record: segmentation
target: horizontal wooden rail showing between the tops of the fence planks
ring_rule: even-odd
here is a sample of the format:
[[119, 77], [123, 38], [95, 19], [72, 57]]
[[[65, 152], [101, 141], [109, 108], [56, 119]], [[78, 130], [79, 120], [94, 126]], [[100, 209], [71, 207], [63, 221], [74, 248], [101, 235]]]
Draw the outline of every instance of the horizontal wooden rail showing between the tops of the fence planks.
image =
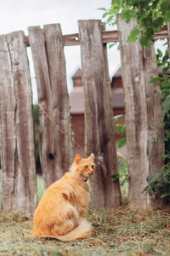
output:
[[[167, 25], [163, 26], [155, 35], [155, 39], [163, 38], [168, 38]], [[102, 31], [102, 42], [103, 44], [118, 42], [117, 30]], [[79, 33], [64, 35], [63, 43], [64, 46], [80, 45]], [[29, 36], [26, 36], [26, 46], [30, 46]]]

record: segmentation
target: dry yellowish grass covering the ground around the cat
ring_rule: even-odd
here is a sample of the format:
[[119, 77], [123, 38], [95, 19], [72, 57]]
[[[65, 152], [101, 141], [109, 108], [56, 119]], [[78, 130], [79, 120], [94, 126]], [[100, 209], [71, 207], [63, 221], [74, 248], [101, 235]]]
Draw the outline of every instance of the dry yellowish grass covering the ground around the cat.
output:
[[170, 212], [89, 211], [86, 240], [61, 242], [31, 236], [32, 221], [0, 212], [0, 255], [170, 255]]

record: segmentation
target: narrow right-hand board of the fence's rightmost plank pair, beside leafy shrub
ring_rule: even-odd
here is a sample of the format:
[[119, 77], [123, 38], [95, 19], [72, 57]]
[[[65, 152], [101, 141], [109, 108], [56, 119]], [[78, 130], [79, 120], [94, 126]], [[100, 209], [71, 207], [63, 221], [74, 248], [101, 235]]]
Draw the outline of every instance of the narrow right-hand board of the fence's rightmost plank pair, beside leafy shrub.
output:
[[[156, 128], [163, 122], [161, 117], [161, 89], [160, 84], [150, 84], [150, 80], [158, 76], [156, 52], [154, 45], [150, 49], [143, 49], [143, 72], [144, 72], [144, 84], [146, 94], [147, 116], [148, 116], [148, 145], [147, 153], [149, 160], [149, 173], [156, 173], [161, 170], [161, 166], [164, 164], [164, 143], [161, 139], [164, 137], [163, 127]], [[153, 144], [156, 142], [158, 144]], [[156, 201], [150, 201], [152, 207], [156, 204]]]

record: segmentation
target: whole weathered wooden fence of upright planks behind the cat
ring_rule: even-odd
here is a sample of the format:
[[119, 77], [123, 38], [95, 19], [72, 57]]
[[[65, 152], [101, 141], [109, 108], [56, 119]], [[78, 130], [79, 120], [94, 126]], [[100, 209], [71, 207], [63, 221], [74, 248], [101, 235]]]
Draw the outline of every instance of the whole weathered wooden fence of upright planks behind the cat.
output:
[[[134, 25], [137, 26], [135, 23]], [[127, 114], [130, 206], [151, 206], [150, 197], [146, 193], [141, 195], [141, 191], [146, 184], [147, 174], [159, 171], [161, 161], [159, 164], [155, 163], [157, 152], [160, 157], [163, 154], [162, 146], [150, 146], [150, 140], [157, 141], [162, 136], [162, 131], [155, 129], [161, 118], [159, 85], [156, 84], [155, 89], [147, 87], [150, 79], [156, 76], [156, 55], [153, 48], [143, 50], [139, 42], [135, 43], [133, 52], [134, 46], [125, 44], [125, 36], [131, 26], [126, 26], [121, 20], [118, 20], [119, 32], [106, 32], [100, 20], [80, 20], [78, 26], [79, 34], [69, 36], [62, 35], [59, 24], [46, 25], [43, 29], [40, 26], [31, 26], [27, 37], [24, 32], [0, 36], [0, 131], [4, 212], [23, 212], [29, 217], [37, 205], [31, 82], [26, 55], [28, 46], [31, 46], [37, 78], [40, 107], [39, 148], [46, 187], [68, 170], [73, 159], [64, 46], [80, 44], [85, 104], [85, 150], [87, 154], [94, 152], [97, 166], [91, 182], [92, 205], [117, 207], [121, 204], [119, 183], [111, 181], [111, 175], [117, 172], [116, 142], [105, 48], [106, 43], [118, 40], [121, 45]], [[168, 37], [169, 26], [156, 34], [156, 38]], [[150, 101], [152, 96], [153, 100]], [[129, 101], [132, 103], [131, 109], [128, 108]], [[141, 107], [143, 103], [144, 108]]]

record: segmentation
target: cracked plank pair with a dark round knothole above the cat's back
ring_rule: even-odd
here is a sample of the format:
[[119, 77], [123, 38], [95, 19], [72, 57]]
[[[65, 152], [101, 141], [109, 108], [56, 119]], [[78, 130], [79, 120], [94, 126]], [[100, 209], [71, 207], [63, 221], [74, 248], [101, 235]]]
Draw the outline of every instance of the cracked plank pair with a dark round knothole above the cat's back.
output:
[[37, 78], [38, 101], [57, 127], [40, 111], [40, 160], [46, 187], [71, 164], [70, 107], [65, 75], [65, 55], [59, 24], [29, 27]]

